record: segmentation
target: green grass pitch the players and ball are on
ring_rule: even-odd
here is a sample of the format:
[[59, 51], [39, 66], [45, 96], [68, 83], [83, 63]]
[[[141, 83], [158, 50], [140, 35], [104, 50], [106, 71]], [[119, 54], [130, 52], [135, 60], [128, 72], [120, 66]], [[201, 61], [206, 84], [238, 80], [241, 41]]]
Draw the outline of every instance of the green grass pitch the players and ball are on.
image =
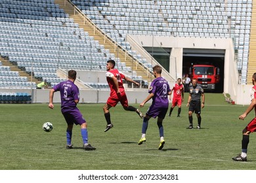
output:
[[[242, 129], [255, 116], [252, 111], [244, 121], [238, 116], [247, 106], [231, 105], [222, 94], [205, 93], [202, 129], [186, 129], [188, 108], [185, 93], [181, 118], [177, 107], [163, 121], [165, 146], [158, 150], [160, 137], [156, 119], [150, 119], [146, 142], [138, 145], [142, 120], [120, 104], [111, 108], [114, 128], [104, 132], [104, 104], [79, 104], [88, 123], [89, 142], [95, 151], [83, 150], [80, 127], [74, 126], [72, 144], [66, 150], [66, 122], [60, 104], [54, 109], [47, 104], [1, 104], [0, 169], [1, 170], [244, 170], [256, 167], [256, 136], [250, 135], [248, 161], [235, 162], [241, 152]], [[145, 96], [146, 97], [146, 96]], [[131, 104], [139, 107], [139, 104]], [[150, 103], [142, 112], [146, 112]], [[168, 111], [169, 112], [169, 111]], [[197, 124], [196, 115], [194, 125]], [[43, 131], [45, 122], [53, 131]]]

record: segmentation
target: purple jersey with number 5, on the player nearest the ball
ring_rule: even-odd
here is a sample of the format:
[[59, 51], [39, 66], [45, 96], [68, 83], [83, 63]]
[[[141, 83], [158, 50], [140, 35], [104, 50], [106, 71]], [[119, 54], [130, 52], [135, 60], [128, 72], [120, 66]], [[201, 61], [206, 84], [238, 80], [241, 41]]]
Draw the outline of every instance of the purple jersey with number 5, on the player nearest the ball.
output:
[[60, 82], [53, 87], [53, 90], [60, 91], [62, 112], [76, 108], [75, 100], [79, 100], [79, 89], [71, 80]]

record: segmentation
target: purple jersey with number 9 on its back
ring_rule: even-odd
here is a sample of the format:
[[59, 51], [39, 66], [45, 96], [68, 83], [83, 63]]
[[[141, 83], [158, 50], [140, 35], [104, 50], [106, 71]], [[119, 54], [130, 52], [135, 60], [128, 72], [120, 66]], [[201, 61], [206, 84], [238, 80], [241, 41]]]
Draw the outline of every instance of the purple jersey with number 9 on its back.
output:
[[148, 93], [154, 93], [152, 105], [154, 107], [169, 107], [168, 92], [171, 92], [170, 86], [165, 78], [159, 77], [152, 81]]

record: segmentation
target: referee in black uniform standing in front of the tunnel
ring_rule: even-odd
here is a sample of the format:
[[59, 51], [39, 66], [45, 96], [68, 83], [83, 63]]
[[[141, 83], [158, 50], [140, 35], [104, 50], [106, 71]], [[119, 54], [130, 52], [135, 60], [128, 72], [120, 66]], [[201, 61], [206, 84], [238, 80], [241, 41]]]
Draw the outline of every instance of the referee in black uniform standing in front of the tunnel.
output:
[[[188, 120], [190, 125], [187, 127], [187, 129], [193, 129], [193, 112], [196, 113], [196, 117], [198, 117], [198, 127], [197, 129], [201, 128], [201, 108], [204, 107], [204, 92], [203, 88], [201, 86], [198, 86], [198, 80], [192, 79], [192, 86], [190, 86], [190, 90], [188, 91], [188, 103], [186, 104], [186, 107], [188, 108]], [[202, 103], [201, 103], [201, 96], [202, 96]]]

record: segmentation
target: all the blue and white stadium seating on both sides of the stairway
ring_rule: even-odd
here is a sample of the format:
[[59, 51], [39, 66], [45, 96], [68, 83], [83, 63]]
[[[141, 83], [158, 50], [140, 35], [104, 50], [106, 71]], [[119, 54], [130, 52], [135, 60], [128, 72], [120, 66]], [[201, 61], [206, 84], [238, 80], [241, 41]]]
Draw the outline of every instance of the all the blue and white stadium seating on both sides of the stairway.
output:
[[[80, 29], [54, 0], [0, 2], [0, 54], [28, 73], [33, 72], [37, 78], [58, 78], [58, 67], [101, 71], [105, 69], [104, 61], [108, 58], [116, 59], [118, 69], [131, 71], [129, 67], [121, 66], [119, 58], [114, 58], [109, 50]], [[125, 41], [127, 33], [231, 37], [238, 51], [238, 69], [242, 73], [242, 81], [246, 82], [252, 0], [72, 2], [127, 50], [131, 49], [129, 42]], [[138, 57], [136, 52], [131, 53]], [[152, 67], [147, 63], [144, 65]], [[19, 86], [0, 82], [0, 87], [8, 87], [9, 84], [9, 87]]]

